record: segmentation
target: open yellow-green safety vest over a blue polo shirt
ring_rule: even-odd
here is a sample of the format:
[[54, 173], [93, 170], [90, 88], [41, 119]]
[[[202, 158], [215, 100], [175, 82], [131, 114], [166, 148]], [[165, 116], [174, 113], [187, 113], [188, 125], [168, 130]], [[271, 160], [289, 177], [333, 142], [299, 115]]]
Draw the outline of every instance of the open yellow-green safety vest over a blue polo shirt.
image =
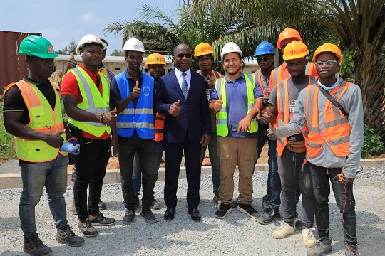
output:
[[[246, 90], [247, 90], [247, 114], [250, 113], [252, 107], [255, 104], [254, 99], [254, 87], [255, 87], [255, 76], [245, 75]], [[227, 95], [226, 95], [226, 78], [220, 78], [215, 82], [215, 89], [217, 90], [218, 96], [222, 94], [222, 109], [217, 112], [217, 135], [226, 137], [229, 134], [229, 128], [227, 125]], [[258, 123], [254, 118], [250, 124], [250, 130], [247, 132], [253, 133], [258, 131]]]

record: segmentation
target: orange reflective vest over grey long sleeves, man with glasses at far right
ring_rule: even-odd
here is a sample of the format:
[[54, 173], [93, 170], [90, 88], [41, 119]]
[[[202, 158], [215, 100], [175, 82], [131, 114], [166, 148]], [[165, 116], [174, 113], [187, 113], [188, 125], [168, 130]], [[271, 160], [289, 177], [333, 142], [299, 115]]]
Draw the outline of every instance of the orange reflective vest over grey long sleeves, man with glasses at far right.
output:
[[[350, 82], [343, 81], [334, 88], [330, 95], [337, 97], [339, 101], [347, 91]], [[347, 117], [342, 114], [338, 107], [327, 100], [324, 112], [324, 129], [319, 129], [317, 85], [312, 85], [307, 91], [307, 102], [305, 115], [309, 129], [307, 139], [307, 156], [316, 157], [319, 155], [324, 143], [332, 150], [334, 155], [344, 157], [349, 154], [350, 124]]]

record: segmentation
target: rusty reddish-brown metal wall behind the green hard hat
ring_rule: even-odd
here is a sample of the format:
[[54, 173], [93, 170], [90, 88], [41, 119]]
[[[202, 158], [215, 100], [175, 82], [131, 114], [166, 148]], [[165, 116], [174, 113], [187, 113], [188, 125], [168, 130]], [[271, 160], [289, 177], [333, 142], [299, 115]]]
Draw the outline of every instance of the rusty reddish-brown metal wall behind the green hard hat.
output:
[[24, 33], [0, 31], [0, 92], [11, 82], [17, 82], [28, 73], [24, 55], [19, 55], [20, 42], [29, 35], [41, 33]]

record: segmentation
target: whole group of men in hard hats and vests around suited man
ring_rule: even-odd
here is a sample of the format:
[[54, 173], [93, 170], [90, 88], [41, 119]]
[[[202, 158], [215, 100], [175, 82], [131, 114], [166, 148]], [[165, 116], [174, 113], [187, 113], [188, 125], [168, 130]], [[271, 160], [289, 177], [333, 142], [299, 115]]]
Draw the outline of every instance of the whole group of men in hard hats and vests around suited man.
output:
[[[200, 176], [208, 147], [212, 164], [212, 201], [216, 218], [237, 208], [258, 223], [279, 220], [272, 237], [282, 239], [302, 229], [307, 255], [332, 252], [329, 235], [330, 183], [342, 214], [345, 255], [359, 255], [353, 182], [363, 144], [363, 107], [357, 85], [339, 77], [341, 50], [324, 43], [309, 62], [309, 50], [299, 32], [285, 28], [277, 48], [284, 63], [274, 68], [277, 55], [271, 43], [255, 50], [260, 70], [241, 71], [242, 50], [236, 43], [223, 46], [220, 56], [225, 75], [212, 69], [214, 51], [200, 43], [194, 53], [184, 43], [175, 46], [175, 68], [165, 74], [165, 58], [148, 55], [137, 38], [123, 46], [126, 69], [113, 75], [102, 60], [107, 42], [95, 35], [83, 36], [76, 53], [77, 65], [68, 70], [59, 87], [48, 78], [58, 55], [41, 36], [28, 36], [19, 53], [26, 55], [29, 73], [5, 89], [4, 124], [15, 136], [23, 191], [19, 204], [24, 252], [51, 255], [39, 239], [35, 206], [46, 186], [48, 204], [57, 228], [56, 240], [83, 245], [66, 219], [64, 193], [68, 159], [76, 163], [73, 175], [73, 211], [78, 230], [86, 237], [98, 235], [96, 225], [113, 225], [114, 218], [101, 213], [103, 178], [110, 156], [118, 154], [125, 215], [123, 224], [140, 216], [158, 220], [154, 197], [158, 169], [165, 156], [163, 218], [175, 218], [178, 176], [184, 156], [187, 176], [187, 212], [200, 222]], [[193, 57], [199, 70], [191, 69]], [[63, 97], [68, 122], [63, 121]], [[269, 173], [263, 213], [252, 206], [252, 176], [262, 147], [268, 142]], [[62, 145], [80, 145], [68, 151]], [[68, 156], [69, 155], [69, 156]], [[239, 196], [234, 198], [234, 174], [239, 172]], [[297, 213], [302, 196], [302, 220]], [[314, 218], [315, 217], [315, 218]], [[318, 239], [314, 237], [314, 219]]]

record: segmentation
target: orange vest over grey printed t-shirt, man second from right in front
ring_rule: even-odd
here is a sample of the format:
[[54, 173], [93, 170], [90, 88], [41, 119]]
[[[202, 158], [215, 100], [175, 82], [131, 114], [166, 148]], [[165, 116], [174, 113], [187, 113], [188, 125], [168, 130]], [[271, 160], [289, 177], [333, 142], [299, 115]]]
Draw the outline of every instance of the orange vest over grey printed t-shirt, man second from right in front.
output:
[[[282, 127], [286, 124], [289, 124], [289, 89], [287, 86], [287, 80], [289, 78], [283, 80], [282, 82], [279, 82], [277, 85], [277, 122], [274, 124], [275, 126]], [[314, 84], [316, 82], [316, 78], [314, 76], [309, 75], [309, 84], [308, 86]], [[302, 134], [304, 135], [304, 138], [307, 139], [307, 127], [305, 126], [304, 129], [302, 129]], [[277, 138], [277, 152], [278, 156], [282, 156], [282, 152], [284, 150], [284, 147], [287, 144], [287, 137], [284, 138]]]

